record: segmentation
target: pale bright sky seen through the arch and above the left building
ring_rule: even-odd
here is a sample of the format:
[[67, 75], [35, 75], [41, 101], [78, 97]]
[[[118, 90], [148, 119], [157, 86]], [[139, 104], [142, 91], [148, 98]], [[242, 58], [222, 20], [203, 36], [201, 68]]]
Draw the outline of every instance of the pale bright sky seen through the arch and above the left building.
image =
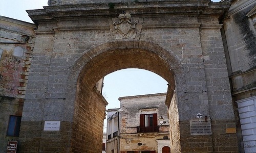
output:
[[[26, 10], [42, 9], [47, 3], [48, 0], [0, 0], [0, 15], [33, 23]], [[120, 107], [119, 97], [166, 91], [167, 82], [159, 75], [142, 69], [124, 69], [104, 77], [102, 95], [109, 103], [106, 109], [111, 109]]]

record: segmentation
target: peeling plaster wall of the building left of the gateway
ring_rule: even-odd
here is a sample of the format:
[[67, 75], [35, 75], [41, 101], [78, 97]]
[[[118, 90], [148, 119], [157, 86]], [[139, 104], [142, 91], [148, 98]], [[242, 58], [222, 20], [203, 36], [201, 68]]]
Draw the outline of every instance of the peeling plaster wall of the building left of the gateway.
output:
[[[0, 16], [0, 152], [6, 152], [9, 116], [22, 116], [35, 42], [35, 25]], [[29, 39], [28, 39], [29, 37]]]

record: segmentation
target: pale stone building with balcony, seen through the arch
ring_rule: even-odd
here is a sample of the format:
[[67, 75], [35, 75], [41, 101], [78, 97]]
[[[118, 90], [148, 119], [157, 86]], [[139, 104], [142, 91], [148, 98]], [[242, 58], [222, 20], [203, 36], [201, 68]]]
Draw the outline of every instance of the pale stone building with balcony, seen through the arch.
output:
[[119, 109], [106, 110], [106, 152], [162, 152], [163, 147], [170, 152], [165, 97], [166, 93], [120, 97]]

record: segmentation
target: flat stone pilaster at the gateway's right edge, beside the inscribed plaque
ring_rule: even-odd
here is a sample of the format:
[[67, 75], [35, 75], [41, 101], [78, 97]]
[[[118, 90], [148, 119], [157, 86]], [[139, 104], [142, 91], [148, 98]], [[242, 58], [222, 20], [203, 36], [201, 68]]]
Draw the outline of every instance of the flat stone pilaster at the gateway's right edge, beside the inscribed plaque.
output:
[[[200, 21], [207, 23], [207, 17]], [[212, 151], [238, 152], [236, 123], [230, 93], [223, 42], [218, 18], [202, 24], [200, 39], [205, 67], [209, 117], [212, 129]]]

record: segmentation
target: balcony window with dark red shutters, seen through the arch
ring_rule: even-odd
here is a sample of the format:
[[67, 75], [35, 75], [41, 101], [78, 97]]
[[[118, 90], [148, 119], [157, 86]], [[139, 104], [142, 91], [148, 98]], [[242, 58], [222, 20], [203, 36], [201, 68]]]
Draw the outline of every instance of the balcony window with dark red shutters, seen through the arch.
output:
[[158, 131], [157, 114], [140, 114], [140, 126], [138, 127], [138, 133]]

